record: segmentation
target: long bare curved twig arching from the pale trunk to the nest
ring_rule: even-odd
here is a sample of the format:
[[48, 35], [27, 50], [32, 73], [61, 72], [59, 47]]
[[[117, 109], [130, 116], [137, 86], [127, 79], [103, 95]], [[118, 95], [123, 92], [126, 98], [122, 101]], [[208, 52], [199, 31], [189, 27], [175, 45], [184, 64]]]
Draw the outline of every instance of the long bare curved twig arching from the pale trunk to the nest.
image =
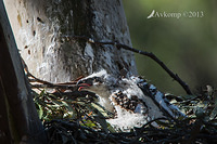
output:
[[84, 39], [87, 40], [90, 43], [93, 44], [99, 44], [99, 45], [104, 45], [104, 44], [111, 44], [111, 45], [115, 45], [118, 49], [125, 49], [135, 53], [139, 53], [142, 55], [145, 55], [150, 58], [152, 58], [154, 62], [156, 62], [174, 80], [176, 80], [187, 92], [187, 94], [192, 95], [192, 92], [189, 88], [189, 86], [179, 78], [179, 76], [177, 74], [174, 74], [156, 55], [154, 55], [152, 52], [145, 52], [145, 51], [141, 51], [141, 50], [137, 50], [135, 48], [128, 47], [126, 44], [122, 44], [119, 42], [113, 42], [113, 41], [97, 41], [93, 40], [91, 38], [88, 38], [86, 36], [62, 36], [65, 38], [73, 38], [73, 39]]

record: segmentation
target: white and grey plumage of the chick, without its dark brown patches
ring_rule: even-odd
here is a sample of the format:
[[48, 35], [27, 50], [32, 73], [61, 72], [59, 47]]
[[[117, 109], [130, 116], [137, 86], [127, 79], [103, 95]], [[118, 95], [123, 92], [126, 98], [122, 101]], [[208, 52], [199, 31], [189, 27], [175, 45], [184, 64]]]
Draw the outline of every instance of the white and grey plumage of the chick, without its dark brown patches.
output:
[[[176, 114], [180, 114], [176, 106], [166, 102], [164, 94], [159, 92], [156, 87], [153, 84], [149, 86], [148, 82], [139, 77], [131, 76], [130, 78], [117, 78], [108, 75], [106, 70], [103, 69], [86, 77], [85, 79], [93, 77], [100, 77], [103, 79], [103, 82], [93, 83], [89, 90], [99, 95], [99, 103], [105, 109], [110, 112], [113, 112], [114, 109], [116, 110], [117, 117], [108, 119], [107, 121], [117, 129], [126, 131], [133, 127], [141, 127], [149, 120], [165, 117], [162, 108], [174, 118], [177, 116]], [[146, 89], [150, 90], [152, 95], [145, 95], [142, 92], [138, 87], [138, 83], [141, 82], [143, 86], [149, 86]], [[133, 112], [124, 108], [113, 101], [114, 95], [119, 91], [126, 95], [129, 101], [132, 101], [132, 95], [136, 95], [142, 103], [138, 103]]]

